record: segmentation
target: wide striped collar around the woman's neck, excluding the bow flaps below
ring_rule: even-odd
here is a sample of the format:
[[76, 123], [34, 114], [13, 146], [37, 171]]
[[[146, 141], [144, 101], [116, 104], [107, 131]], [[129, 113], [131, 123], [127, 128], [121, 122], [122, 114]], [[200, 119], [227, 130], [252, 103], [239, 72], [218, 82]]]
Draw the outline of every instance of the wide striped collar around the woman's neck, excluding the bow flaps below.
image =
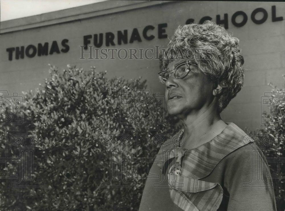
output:
[[[168, 159], [176, 157], [177, 152], [174, 153], [174, 149], [176, 149], [175, 151], [181, 150], [184, 153], [182, 165], [191, 163], [187, 166], [187, 170], [184, 168], [181, 174], [195, 179], [206, 177], [221, 159], [251, 142], [249, 136], [234, 123], [227, 123], [227, 127], [219, 135], [195, 149], [179, 147], [179, 143], [183, 139], [183, 133], [184, 129], [181, 129], [164, 142], [156, 156], [156, 164], [162, 169]], [[168, 156], [165, 156], [167, 154], [165, 152], [168, 152]], [[162, 156], [163, 154], [164, 156]]]

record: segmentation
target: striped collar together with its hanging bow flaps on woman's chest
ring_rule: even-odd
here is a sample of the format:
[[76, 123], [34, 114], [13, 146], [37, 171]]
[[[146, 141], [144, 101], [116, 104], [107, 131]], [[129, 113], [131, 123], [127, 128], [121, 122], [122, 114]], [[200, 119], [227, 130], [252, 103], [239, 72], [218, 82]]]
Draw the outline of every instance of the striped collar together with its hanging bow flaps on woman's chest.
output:
[[[179, 147], [183, 132], [181, 129], [166, 140], [155, 160], [162, 172], [168, 172], [170, 197], [184, 211], [217, 210], [223, 189], [219, 183], [206, 182], [203, 178], [211, 174], [225, 156], [251, 143], [252, 139], [235, 124], [227, 123], [227, 127], [211, 141], [195, 149], [185, 149]], [[173, 164], [174, 160], [176, 164]], [[181, 172], [177, 174], [175, 169], [179, 162]], [[195, 204], [191, 201], [193, 197]]]

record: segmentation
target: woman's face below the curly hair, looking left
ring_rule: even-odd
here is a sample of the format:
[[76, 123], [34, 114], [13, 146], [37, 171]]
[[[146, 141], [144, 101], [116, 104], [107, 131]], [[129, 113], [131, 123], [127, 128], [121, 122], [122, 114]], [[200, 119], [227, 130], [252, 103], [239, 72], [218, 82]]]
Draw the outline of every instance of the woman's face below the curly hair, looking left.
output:
[[202, 108], [207, 108], [214, 98], [213, 82], [197, 66], [191, 65], [190, 72], [184, 78], [174, 77], [174, 67], [183, 61], [185, 59], [174, 60], [168, 64], [167, 70], [171, 76], [165, 83], [168, 112], [180, 119], [186, 118], [192, 112], [199, 112]]

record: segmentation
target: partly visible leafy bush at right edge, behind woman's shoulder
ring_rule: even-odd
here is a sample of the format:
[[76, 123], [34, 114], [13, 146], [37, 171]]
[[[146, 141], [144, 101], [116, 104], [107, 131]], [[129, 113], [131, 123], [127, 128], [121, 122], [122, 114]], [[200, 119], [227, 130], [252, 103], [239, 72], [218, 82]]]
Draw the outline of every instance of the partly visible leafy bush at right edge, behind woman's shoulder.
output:
[[[284, 78], [284, 76], [283, 76]], [[284, 78], [285, 79], [285, 78]], [[279, 89], [269, 84], [272, 89], [270, 112], [262, 111], [262, 119], [265, 123], [255, 131], [247, 130], [248, 134], [253, 134], [253, 138], [260, 147], [264, 147], [265, 157], [281, 158], [282, 162], [268, 162], [272, 181], [274, 183], [274, 192], [276, 206], [278, 211], [285, 210], [285, 87]], [[276, 161], [276, 160], [275, 160]]]

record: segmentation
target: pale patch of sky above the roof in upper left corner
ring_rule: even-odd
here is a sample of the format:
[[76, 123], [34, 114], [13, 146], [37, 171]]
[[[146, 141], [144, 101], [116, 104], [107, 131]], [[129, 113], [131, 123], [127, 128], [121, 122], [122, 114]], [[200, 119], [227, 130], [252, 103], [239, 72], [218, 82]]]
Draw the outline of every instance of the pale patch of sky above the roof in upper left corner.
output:
[[63, 10], [104, 0], [0, 0], [0, 21]]

